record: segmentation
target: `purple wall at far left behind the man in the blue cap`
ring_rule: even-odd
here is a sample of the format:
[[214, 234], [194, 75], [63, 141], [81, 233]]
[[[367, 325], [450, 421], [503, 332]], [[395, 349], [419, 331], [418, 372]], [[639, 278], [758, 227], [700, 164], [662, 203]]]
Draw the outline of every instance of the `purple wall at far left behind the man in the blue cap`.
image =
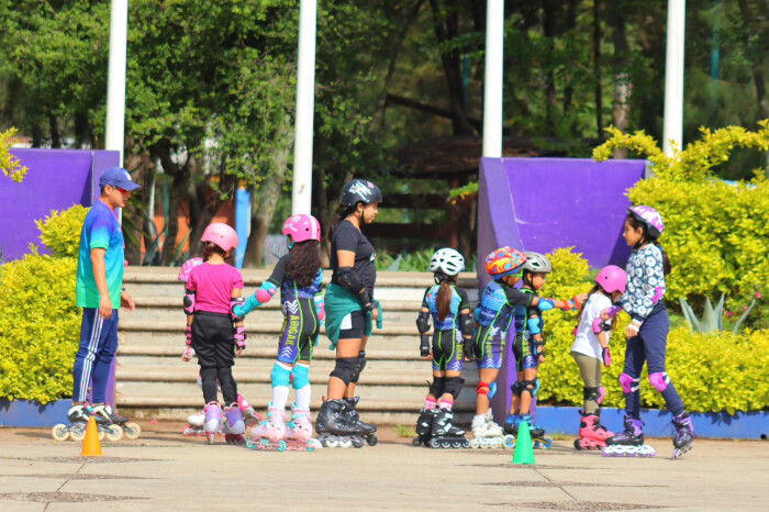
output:
[[80, 149], [11, 149], [30, 171], [16, 183], [0, 177], [0, 251], [4, 260], [27, 254], [40, 244], [35, 220], [73, 204], [89, 207], [99, 196], [101, 174], [119, 165], [118, 152]]

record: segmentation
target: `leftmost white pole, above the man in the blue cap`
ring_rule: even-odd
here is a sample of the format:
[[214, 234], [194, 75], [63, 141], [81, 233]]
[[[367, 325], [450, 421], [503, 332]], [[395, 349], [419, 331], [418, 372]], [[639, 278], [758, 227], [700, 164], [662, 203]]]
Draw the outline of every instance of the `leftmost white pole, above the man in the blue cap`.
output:
[[123, 165], [123, 148], [125, 146], [125, 55], [127, 38], [129, 0], [112, 0], [104, 147], [120, 152], [121, 166]]

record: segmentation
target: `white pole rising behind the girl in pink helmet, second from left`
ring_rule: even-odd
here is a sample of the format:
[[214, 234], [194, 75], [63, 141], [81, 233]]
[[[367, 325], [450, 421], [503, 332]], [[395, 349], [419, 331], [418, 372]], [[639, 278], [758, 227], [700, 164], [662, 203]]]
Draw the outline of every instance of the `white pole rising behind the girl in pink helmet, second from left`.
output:
[[297, 64], [297, 124], [293, 143], [291, 212], [310, 213], [312, 205], [312, 135], [315, 115], [315, 30], [317, 0], [301, 0]]

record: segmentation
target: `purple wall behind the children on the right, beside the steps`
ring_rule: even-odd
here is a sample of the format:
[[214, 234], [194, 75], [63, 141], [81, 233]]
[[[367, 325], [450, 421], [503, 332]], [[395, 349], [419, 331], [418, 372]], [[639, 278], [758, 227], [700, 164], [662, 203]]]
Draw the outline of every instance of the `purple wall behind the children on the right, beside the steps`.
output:
[[[481, 288], [490, 280], [483, 259], [504, 245], [539, 253], [573, 246], [591, 267], [624, 267], [629, 254], [622, 238], [629, 207], [625, 192], [645, 171], [644, 160], [482, 158], [478, 204]], [[508, 358], [491, 403], [498, 422], [506, 416], [515, 379], [512, 358]]]

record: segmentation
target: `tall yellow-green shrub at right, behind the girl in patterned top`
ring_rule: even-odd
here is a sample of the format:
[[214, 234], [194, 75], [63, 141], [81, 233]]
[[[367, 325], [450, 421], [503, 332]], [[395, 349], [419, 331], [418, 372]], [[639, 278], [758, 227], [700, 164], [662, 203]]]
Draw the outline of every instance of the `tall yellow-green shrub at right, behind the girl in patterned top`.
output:
[[698, 302], [724, 292], [743, 305], [756, 286], [769, 282], [769, 181], [764, 170], [736, 186], [715, 179], [712, 172], [735, 147], [769, 149], [769, 122], [759, 125], [756, 132], [739, 126], [703, 129], [699, 141], [672, 156], [666, 156], [643, 132], [623, 134], [615, 129], [595, 148], [598, 160], [625, 147], [653, 164], [654, 176], [636, 183], [628, 197], [635, 204], [657, 209], [665, 219], [660, 242], [672, 264], [666, 280], [668, 300], [694, 298]]

